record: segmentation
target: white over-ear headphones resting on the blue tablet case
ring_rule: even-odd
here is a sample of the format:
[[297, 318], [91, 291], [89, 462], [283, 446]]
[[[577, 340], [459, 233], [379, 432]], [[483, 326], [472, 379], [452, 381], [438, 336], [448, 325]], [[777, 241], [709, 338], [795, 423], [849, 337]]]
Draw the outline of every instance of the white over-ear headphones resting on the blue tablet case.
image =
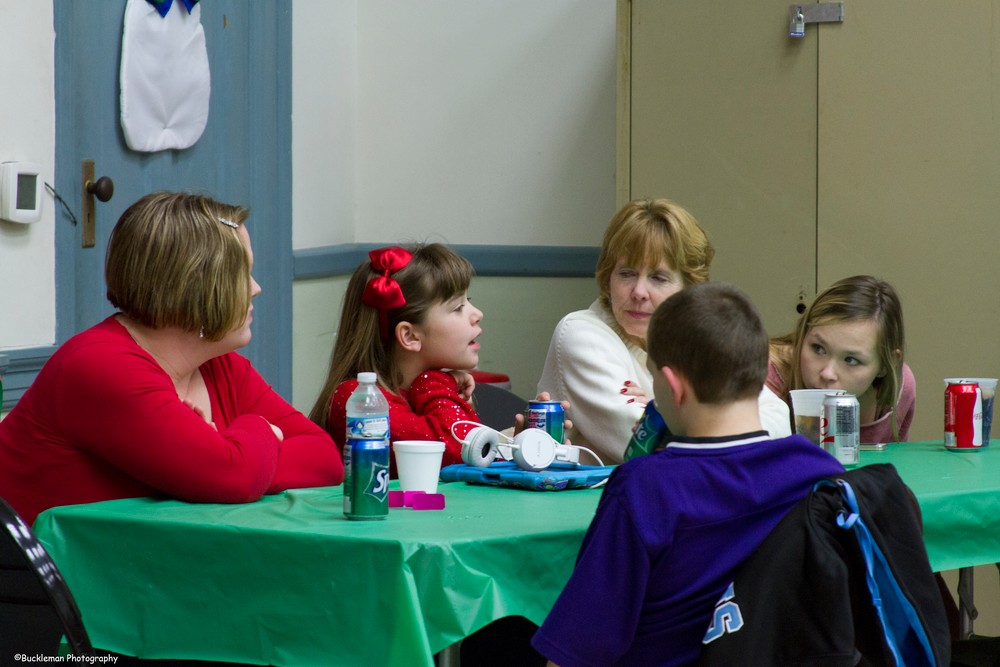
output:
[[[459, 438], [455, 435], [455, 426], [458, 424], [474, 424], [475, 428], [465, 438]], [[512, 450], [512, 458], [522, 470], [538, 472], [548, 468], [554, 461], [580, 463], [579, 447], [562, 445], [540, 428], [526, 428], [510, 438], [476, 422], [457, 421], [452, 424], [451, 433], [462, 443], [462, 461], [477, 468], [489, 466], [498, 456], [503, 458], [500, 450], [506, 448]], [[501, 444], [501, 438], [506, 442]]]

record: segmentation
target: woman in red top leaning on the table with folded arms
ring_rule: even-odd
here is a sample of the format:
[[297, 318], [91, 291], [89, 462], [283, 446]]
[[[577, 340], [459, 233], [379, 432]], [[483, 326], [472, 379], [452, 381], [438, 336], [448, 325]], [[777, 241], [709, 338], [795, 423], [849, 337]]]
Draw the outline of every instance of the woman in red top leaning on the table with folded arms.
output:
[[330, 437], [235, 350], [250, 342], [245, 208], [159, 192], [108, 243], [119, 309], [62, 345], [0, 421], [0, 496], [56, 505], [174, 497], [241, 503], [343, 481]]

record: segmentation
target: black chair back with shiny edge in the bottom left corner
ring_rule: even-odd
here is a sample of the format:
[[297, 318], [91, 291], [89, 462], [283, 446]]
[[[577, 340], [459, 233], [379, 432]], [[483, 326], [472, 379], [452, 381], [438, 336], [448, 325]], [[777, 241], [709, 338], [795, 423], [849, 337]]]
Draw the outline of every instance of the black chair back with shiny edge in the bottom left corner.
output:
[[73, 655], [96, 655], [59, 568], [2, 498], [0, 524], [0, 655], [57, 655], [61, 636]]

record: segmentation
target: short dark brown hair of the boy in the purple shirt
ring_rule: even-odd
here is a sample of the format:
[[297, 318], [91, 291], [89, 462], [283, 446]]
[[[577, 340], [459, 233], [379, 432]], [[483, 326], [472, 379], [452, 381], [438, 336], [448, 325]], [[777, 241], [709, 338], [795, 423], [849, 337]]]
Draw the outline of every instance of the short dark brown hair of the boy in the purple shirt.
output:
[[756, 398], [767, 379], [767, 331], [731, 285], [701, 283], [671, 296], [653, 313], [646, 345], [656, 367], [687, 378], [701, 403]]

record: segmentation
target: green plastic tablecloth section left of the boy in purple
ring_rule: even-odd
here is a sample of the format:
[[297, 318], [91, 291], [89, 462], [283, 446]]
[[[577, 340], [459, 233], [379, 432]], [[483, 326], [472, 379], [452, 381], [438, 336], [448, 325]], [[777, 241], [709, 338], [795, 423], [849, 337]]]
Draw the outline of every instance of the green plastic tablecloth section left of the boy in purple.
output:
[[144, 658], [419, 665], [491, 620], [540, 623], [600, 489], [442, 484], [443, 511], [347, 521], [341, 487], [247, 505], [60, 507], [35, 531], [96, 646]]

